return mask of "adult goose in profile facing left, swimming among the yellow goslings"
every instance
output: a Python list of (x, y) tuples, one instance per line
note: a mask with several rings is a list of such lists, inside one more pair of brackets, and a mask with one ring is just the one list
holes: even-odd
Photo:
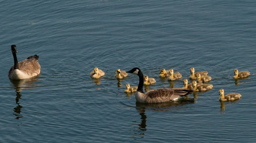
[(167, 101), (176, 101), (179, 98), (191, 94), (192, 91), (183, 88), (159, 88), (152, 91), (143, 92), (143, 73), (137, 67), (127, 71), (127, 73), (136, 74), (139, 77), (138, 89), (135, 94), (137, 102), (141, 103), (158, 103)]

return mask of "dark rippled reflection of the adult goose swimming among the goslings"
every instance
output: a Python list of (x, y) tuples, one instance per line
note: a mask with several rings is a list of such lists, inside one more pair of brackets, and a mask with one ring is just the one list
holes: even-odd
[(177, 111), (177, 109), (182, 108), (183, 105), (186, 104), (194, 104), (195, 100), (188, 98), (188, 99), (183, 99), (183, 100), (179, 100), (179, 101), (170, 101), (170, 102), (162, 102), (162, 103), (153, 103), (153, 104), (144, 104), (144, 103), (140, 103), (140, 102), (136, 102), (136, 109), (138, 111), (138, 113), (141, 116), (141, 122), (138, 124), (138, 132), (139, 133), (135, 133), (138, 135), (142, 135), (140, 136), (141, 138), (144, 138), (144, 133), (146, 132), (147, 128), (147, 116), (145, 111), (147, 110), (153, 110), (153, 111)]

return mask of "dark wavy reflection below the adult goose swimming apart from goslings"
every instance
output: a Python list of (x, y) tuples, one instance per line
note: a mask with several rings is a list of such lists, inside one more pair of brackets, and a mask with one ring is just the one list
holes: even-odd
[(21, 115), (22, 112), (22, 105), (20, 105), (20, 100), (22, 99), (22, 89), (25, 88), (34, 88), (35, 86), (37, 86), (34, 82), (37, 81), (37, 78), (34, 79), (22, 79), (22, 80), (12, 80), (10, 79), (10, 82), (13, 83), (13, 87), (16, 91), (16, 104), (17, 106), (13, 108), (14, 116), (16, 116), (16, 119), (20, 119), (21, 117), (23, 117)]

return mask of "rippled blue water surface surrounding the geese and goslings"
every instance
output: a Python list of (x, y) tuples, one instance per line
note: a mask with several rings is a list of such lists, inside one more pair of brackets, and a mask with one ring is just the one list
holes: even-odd
[[(0, 142), (254, 142), (256, 2), (1, 1)], [(40, 56), (41, 75), (13, 82), (19, 61)], [(100, 80), (89, 73), (105, 71)], [(139, 67), (147, 88), (181, 88), (160, 69), (188, 78), (207, 70), (214, 87), (177, 101), (144, 105), (116, 69)], [(235, 81), (233, 70), (251, 75)], [(190, 82), (190, 81), (189, 81)], [(219, 102), (219, 89), (242, 98)]]

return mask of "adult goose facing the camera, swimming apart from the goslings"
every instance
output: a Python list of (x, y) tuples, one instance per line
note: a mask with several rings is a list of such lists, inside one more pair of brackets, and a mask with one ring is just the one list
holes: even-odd
[(38, 55), (31, 55), (18, 63), (16, 45), (11, 45), (11, 52), (13, 53), (14, 65), (8, 73), (10, 79), (29, 79), (40, 75), (41, 67), (38, 63)]

